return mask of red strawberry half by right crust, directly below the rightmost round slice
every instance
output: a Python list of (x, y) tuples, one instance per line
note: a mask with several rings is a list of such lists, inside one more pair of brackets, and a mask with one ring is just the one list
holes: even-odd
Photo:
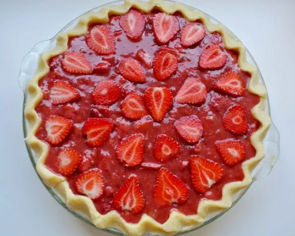
[(246, 147), (239, 140), (219, 140), (215, 142), (215, 146), (221, 158), (223, 158), (228, 165), (235, 165), (246, 156)]

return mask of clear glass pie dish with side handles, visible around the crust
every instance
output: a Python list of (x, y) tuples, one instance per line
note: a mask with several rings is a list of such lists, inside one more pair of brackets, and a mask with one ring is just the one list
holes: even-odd
[[(166, 2), (167, 3), (173, 3), (173, 1), (166, 1)], [(115, 1), (115, 2), (111, 2), (111, 3), (107, 4), (107, 5), (111, 6), (111, 5), (118, 5), (118, 4), (121, 4), (121, 3), (123, 3), (123, 1)], [(90, 10), (89, 12), (98, 11), (103, 6), (106, 6), (106, 5), (102, 5), (102, 6), (99, 6), (97, 8), (94, 8), (94, 9)], [(199, 11), (197, 9), (194, 9), (194, 10)], [(88, 13), (88, 12), (86, 12), (86, 13)], [(84, 14), (86, 14), (86, 13), (84, 13)], [(83, 16), (83, 15), (81, 15), (81, 16)], [(25, 56), (25, 58), (24, 58), (24, 60), (22, 62), (21, 71), (20, 71), (20, 74), (19, 74), (19, 85), (24, 91), (24, 107), (25, 107), (25, 105), (27, 103), (27, 100), (28, 100), (28, 93), (26, 92), (26, 84), (33, 77), (33, 75), (35, 73), (40, 54), (43, 53), (43, 52), (47, 52), (48, 50), (54, 48), (55, 45), (56, 45), (57, 36), (60, 33), (73, 28), (77, 24), (77, 22), (78, 22), (78, 20), (79, 20), (79, 18), (81, 16), (79, 16), (76, 19), (74, 19), (73, 21), (71, 21), (68, 25), (66, 25), (63, 29), (61, 29), (61, 31), (59, 31), (59, 33), (55, 37), (53, 37), (52, 39), (45, 40), (45, 41), (37, 43), (32, 48), (32, 50)], [(210, 21), (212, 23), (215, 23), (215, 24), (220, 23), (219, 21), (217, 21), (216, 19), (214, 19), (213, 17), (211, 17), (209, 15), (207, 15), (207, 17), (210, 19)], [(233, 33), (232, 33), (231, 36), (235, 40), (239, 41), (238, 38)], [(247, 62), (249, 64), (252, 64), (252, 65), (257, 67), (254, 59), (252, 58), (252, 56), (250, 55), (250, 53), (247, 50), (246, 50), (246, 57), (247, 57)], [(261, 73), (259, 72), (259, 70), (258, 70), (258, 76), (259, 76), (260, 83), (265, 86), (263, 78), (262, 78)], [(265, 99), (265, 104), (266, 104), (265, 111), (270, 116), (270, 106), (269, 106), (269, 101), (268, 101), (267, 98)], [(27, 124), (25, 118), (23, 117), (24, 137), (27, 136), (28, 129), (29, 129), (28, 124)], [(252, 179), (253, 179), (253, 181), (266, 176), (271, 171), (273, 165), (276, 163), (277, 158), (279, 156), (279, 133), (278, 133), (278, 130), (276, 129), (274, 124), (271, 124), (269, 132), (268, 132), (267, 136), (265, 137), (263, 144), (264, 144), (264, 148), (265, 148), (265, 157), (263, 158), (263, 160), (260, 161), (258, 166), (256, 166), (254, 171), (252, 171)], [(36, 167), (37, 158), (33, 154), (33, 151), (28, 146), (27, 146), (27, 149), (28, 149), (28, 154), (29, 154), (29, 156), (31, 158), (31, 161), (32, 161), (34, 167)], [(52, 194), (52, 196), (55, 197), (58, 200), (58, 202), (63, 207), (65, 207), (72, 214), (74, 214), (78, 218), (82, 219), (83, 221), (85, 221), (85, 222), (87, 222), (89, 224), (92, 224), (91, 221), (89, 219), (87, 219), (87, 217), (85, 217), (83, 214), (81, 214), (79, 212), (71, 211), (66, 206), (66, 204), (64, 203), (64, 200), (62, 199), (62, 197), (59, 196), (59, 194), (53, 188), (50, 188), (50, 187), (47, 187), (47, 186), (45, 186), (45, 187), (49, 190), (49, 192)], [(239, 192), (237, 192), (235, 194), (235, 196), (233, 198), (232, 206), (234, 206), (236, 204), (236, 202), (243, 196), (243, 194), (246, 192), (247, 189), (248, 188), (244, 188), (244, 189), (240, 190)], [(227, 210), (229, 210), (229, 209), (227, 209)], [(219, 218), (227, 210), (219, 211), (219, 212), (216, 212), (216, 213), (208, 216), (206, 218), (204, 224), (202, 224), (201, 226), (204, 226), (204, 225), (214, 221), (215, 219)], [(199, 226), (199, 227), (201, 227), (201, 226)], [(196, 227), (195, 229), (192, 229), (192, 230), (196, 230), (199, 227)], [(116, 234), (116, 235), (123, 235), (123, 233), (121, 233), (120, 231), (118, 231), (116, 229), (105, 229), (105, 230), (107, 232), (109, 232), (109, 233), (113, 233), (113, 234)], [(189, 230), (189, 231), (191, 231), (191, 230)], [(187, 233), (189, 231), (184, 231), (184, 232), (181, 232), (180, 234), (184, 234), (184, 233)]]

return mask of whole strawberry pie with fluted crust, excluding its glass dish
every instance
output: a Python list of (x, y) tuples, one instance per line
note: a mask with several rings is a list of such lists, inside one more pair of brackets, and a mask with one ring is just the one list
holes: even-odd
[(37, 171), (98, 228), (193, 229), (232, 205), (264, 157), (257, 70), (225, 26), (186, 5), (87, 13), (27, 87)]

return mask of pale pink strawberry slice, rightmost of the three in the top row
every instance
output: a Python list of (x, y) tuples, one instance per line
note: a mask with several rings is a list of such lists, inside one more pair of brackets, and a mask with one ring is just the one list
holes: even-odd
[(183, 47), (189, 47), (200, 42), (206, 35), (206, 29), (203, 25), (189, 23), (181, 30), (180, 43)]

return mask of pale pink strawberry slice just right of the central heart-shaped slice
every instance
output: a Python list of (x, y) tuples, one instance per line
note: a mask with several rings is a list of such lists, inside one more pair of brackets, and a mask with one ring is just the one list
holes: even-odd
[(189, 78), (184, 81), (177, 92), (175, 100), (177, 103), (198, 104), (206, 100), (207, 89), (198, 78)]

